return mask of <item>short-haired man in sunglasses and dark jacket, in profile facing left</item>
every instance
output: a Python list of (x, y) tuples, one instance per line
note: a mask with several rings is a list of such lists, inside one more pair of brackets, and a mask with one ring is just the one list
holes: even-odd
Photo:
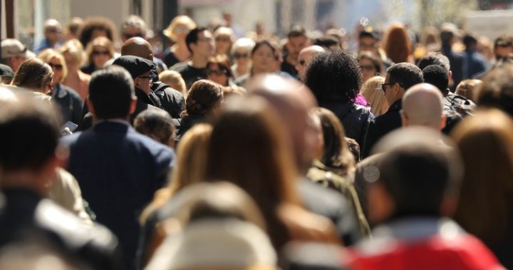
[(422, 71), (413, 63), (395, 63), (387, 69), (385, 83), (381, 85), (381, 89), (385, 93), (385, 98), (390, 107), (386, 113), (371, 122), (367, 140), (363, 146), (363, 157), (370, 155), (371, 149), (381, 137), (401, 127), (401, 99), (408, 88), (423, 83), (423, 81)]

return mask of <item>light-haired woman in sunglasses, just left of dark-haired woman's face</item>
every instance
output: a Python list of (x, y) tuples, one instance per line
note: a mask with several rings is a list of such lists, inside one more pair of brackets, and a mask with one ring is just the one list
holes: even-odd
[(232, 45), (231, 55), (235, 59), (232, 65), (234, 79), (246, 75), (251, 70), (251, 56), (255, 42), (251, 38), (238, 38)]

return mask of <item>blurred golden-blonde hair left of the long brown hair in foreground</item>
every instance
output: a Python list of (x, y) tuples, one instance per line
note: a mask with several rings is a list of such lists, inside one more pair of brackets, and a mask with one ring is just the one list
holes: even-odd
[(212, 126), (199, 123), (183, 135), (177, 147), (177, 162), (167, 187), (157, 190), (155, 198), (142, 212), (141, 221), (144, 224), (159, 207), (165, 204), (182, 188), (204, 180), (205, 154)]

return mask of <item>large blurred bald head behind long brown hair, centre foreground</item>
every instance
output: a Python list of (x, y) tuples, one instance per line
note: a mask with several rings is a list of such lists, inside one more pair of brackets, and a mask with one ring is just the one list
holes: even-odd
[(265, 98), (278, 112), (294, 147), (299, 172), (304, 172), (315, 155), (315, 123), (309, 115), (316, 100), (305, 85), (275, 75), (257, 76), (247, 84), (249, 95)]

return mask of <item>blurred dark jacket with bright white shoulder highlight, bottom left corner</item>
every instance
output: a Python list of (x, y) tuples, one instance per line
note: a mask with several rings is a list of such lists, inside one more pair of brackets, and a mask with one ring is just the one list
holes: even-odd
[(99, 224), (81, 219), (28, 189), (4, 189), (0, 194), (0, 249), (9, 244), (43, 244), (88, 269), (123, 269), (118, 240)]

